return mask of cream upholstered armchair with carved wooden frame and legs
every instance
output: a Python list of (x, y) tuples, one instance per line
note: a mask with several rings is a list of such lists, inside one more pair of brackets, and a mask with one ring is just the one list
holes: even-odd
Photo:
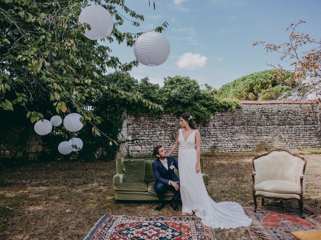
[(303, 157), (287, 150), (272, 150), (252, 159), (252, 190), (255, 211), (256, 198), (272, 198), (277, 200), (297, 200), (300, 215), (303, 211), (305, 188), (305, 165)]

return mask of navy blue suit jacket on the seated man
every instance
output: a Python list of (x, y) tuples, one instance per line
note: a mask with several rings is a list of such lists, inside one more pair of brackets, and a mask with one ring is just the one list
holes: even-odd
[[(179, 178), (176, 175), (174, 168), (170, 168), (171, 165), (174, 165), (177, 169), (179, 169), (178, 161), (173, 156), (168, 156), (167, 164), (169, 166), (168, 170), (165, 168), (161, 160), (159, 160), (158, 158), (152, 162), (152, 172), (155, 176), (155, 183), (162, 182), (168, 185), (169, 180), (179, 181)], [(171, 177), (171, 179), (168, 179), (169, 177)]]

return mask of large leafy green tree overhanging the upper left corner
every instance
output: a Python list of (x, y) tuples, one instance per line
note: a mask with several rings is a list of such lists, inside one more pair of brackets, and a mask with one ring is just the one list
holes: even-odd
[[(46, 112), (35, 109), (37, 104), (34, 103), (50, 102), (47, 109), (59, 114), (76, 109), (84, 121), (94, 125), (93, 132), (99, 134), (102, 132), (95, 124), (100, 123), (101, 118), (85, 107), (89, 99), (107, 95), (110, 99), (137, 100), (146, 106), (160, 107), (104, 81), (107, 67), (126, 71), (138, 62), (121, 63), (111, 54), (108, 45), (100, 45), (99, 41), (83, 35), (85, 27), (90, 26), (78, 23), (78, 15), (88, 4), (102, 5), (116, 19), (112, 35), (103, 41), (133, 45), (137, 34), (118, 29), (126, 16), (116, 7), (134, 19), (134, 26), (139, 26), (138, 21), (143, 21), (144, 17), (130, 10), (124, 0), (0, 2), (0, 106), (3, 109), (14, 110), (15, 105), (22, 105), (27, 117), (35, 122)], [(166, 27), (164, 22), (156, 30)]]

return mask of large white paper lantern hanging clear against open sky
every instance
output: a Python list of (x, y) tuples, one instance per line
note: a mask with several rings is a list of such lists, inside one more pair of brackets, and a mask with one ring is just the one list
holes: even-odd
[(161, 65), (169, 57), (170, 51), (171, 46), (167, 38), (155, 31), (141, 34), (134, 44), (135, 57), (147, 66)]

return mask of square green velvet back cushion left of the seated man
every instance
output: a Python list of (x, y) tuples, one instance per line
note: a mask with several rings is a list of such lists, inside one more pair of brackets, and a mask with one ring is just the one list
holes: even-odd
[(125, 159), (122, 161), (123, 182), (142, 182), (145, 179), (146, 161), (144, 159)]

